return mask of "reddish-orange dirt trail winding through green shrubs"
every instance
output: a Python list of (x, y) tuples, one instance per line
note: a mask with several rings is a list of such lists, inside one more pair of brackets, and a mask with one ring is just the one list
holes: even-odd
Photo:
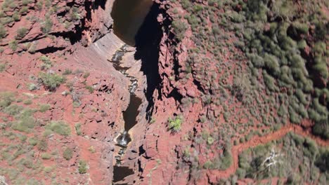
[(239, 154), (244, 151), (245, 149), (249, 149), (252, 147), (255, 147), (259, 144), (266, 144), (268, 142), (271, 142), (273, 140), (277, 140), (280, 139), (282, 137), (284, 137), (285, 135), (288, 134), (288, 132), (295, 132), (297, 135), (301, 135), (303, 137), (310, 137), (311, 139), (314, 139), (314, 141), (316, 142), (316, 144), (320, 145), (320, 146), (329, 146), (329, 142), (325, 141), (323, 139), (321, 139), (320, 137), (316, 137), (314, 135), (311, 134), (311, 129), (310, 128), (302, 128), (302, 126), (300, 125), (286, 125), (283, 128), (281, 128), (280, 130), (276, 131), (276, 132), (272, 132), (269, 135), (265, 135), (262, 137), (259, 137), (258, 135), (255, 137), (252, 137), (252, 139), (250, 139), (250, 141), (245, 142), (243, 144), (238, 144), (237, 146), (233, 146), (232, 147), (232, 157), (233, 157), (233, 164), (228, 167), (227, 170), (209, 170), (207, 172), (208, 177), (210, 179), (210, 181), (217, 181), (219, 178), (228, 178), (230, 177), (231, 174), (234, 174), (236, 172), (236, 170), (238, 169), (238, 156)]

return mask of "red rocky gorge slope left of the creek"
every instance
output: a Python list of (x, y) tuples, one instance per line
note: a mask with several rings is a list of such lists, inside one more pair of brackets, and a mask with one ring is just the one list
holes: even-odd
[[(25, 135), (27, 141), (37, 138), (35, 146), (25, 144), (29, 147), (25, 152), (32, 156), (18, 156), (11, 169), (17, 168), (16, 161), (20, 158), (29, 161), (34, 158), (39, 173), (47, 171), (49, 175), (35, 172), (28, 176), (26, 170), (19, 172), (20, 178), (16, 179), (9, 178), (8, 171), (1, 171), (1, 175), (9, 184), (22, 179), (44, 184), (53, 181), (109, 184), (115, 150), (113, 139), (124, 128), (122, 111), (129, 104), (129, 79), (108, 62), (124, 45), (112, 34), (110, 11), (113, 1), (40, 2), (19, 1), (14, 5), (0, 1), (3, 5), (1, 16), (5, 18), (24, 11), (15, 21), (4, 24), (6, 34), (0, 39), (0, 63), (4, 67), (0, 73), (1, 98), (3, 93), (10, 93), (13, 99), (22, 99), (11, 104), (34, 109), (31, 118), (36, 122), (33, 129), (25, 132), (11, 127), (21, 112), (13, 116), (1, 107), (0, 116), (6, 120), (4, 133)], [(65, 80), (50, 88), (46, 85), (47, 80), (41, 79), (41, 74), (57, 75)], [(25, 104), (22, 102), (25, 100), (32, 101)], [(41, 105), (44, 105), (42, 110)], [(49, 125), (59, 121), (67, 125), (65, 130), (70, 129), (70, 132), (60, 135), (51, 131)], [(41, 140), (46, 143), (42, 150), (38, 145)], [(0, 141), (4, 149), (9, 144), (20, 145), (20, 141), (9, 142), (4, 135), (0, 135)], [(71, 154), (66, 159), (67, 149)], [(41, 154), (44, 157), (41, 158)], [(46, 155), (51, 155), (50, 159)], [(1, 159), (0, 165), (1, 168), (8, 166), (8, 160)], [(57, 176), (50, 177), (54, 171)]]

